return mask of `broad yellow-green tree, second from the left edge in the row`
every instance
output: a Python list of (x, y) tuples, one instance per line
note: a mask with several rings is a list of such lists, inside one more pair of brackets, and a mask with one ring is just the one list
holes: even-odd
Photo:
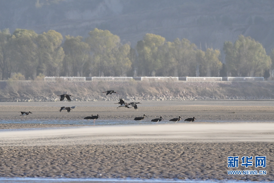
[(33, 30), (16, 29), (11, 37), (12, 66), (16, 73), (24, 73), (26, 79), (34, 79), (39, 64), (37, 34)]

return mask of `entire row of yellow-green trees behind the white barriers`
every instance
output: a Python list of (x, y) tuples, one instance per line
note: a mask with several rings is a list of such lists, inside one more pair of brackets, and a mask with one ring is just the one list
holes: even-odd
[(268, 56), (262, 44), (240, 35), (218, 49), (199, 49), (188, 39), (166, 41), (146, 34), (135, 47), (122, 44), (117, 35), (95, 28), (87, 38), (63, 36), (55, 30), (0, 30), (0, 73), (7, 80), (18, 74), (34, 80), (43, 76), (175, 76), (261, 77), (272, 68), (274, 49)]

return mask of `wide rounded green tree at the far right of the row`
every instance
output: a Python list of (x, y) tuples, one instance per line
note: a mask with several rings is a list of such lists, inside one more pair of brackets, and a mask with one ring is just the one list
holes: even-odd
[(250, 37), (240, 35), (234, 45), (225, 42), (223, 49), (232, 76), (263, 76), (264, 71), (271, 67), (271, 58), (266, 55), (262, 44)]

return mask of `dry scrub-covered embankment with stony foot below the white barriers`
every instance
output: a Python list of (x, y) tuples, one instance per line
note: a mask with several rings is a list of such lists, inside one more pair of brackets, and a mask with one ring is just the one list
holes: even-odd
[[(119, 94), (105, 95), (114, 90)], [(274, 99), (274, 82), (1, 81), (0, 102)]]

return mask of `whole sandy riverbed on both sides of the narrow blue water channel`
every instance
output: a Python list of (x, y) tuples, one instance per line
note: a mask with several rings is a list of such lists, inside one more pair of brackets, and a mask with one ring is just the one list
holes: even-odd
[[(18, 111), (26, 110), (33, 112), (28, 116), (32, 119), (66, 117), (73, 120), (92, 112), (105, 114), (99, 114), (104, 119), (130, 119), (145, 113), (149, 119), (160, 115), (166, 119), (195, 116), (197, 122), (2, 131), (0, 176), (274, 180), (271, 102), (244, 105), (244, 102), (194, 102), (195, 105), (152, 102), (150, 106), (142, 103), (145, 104), (138, 111), (85, 103), (86, 106), (79, 104), (73, 113), (60, 113), (56, 104), (1, 105), (2, 120), (18, 119)], [(246, 122), (206, 122), (209, 119)], [(27, 125), (10, 126), (22, 128)], [(228, 168), (227, 156), (239, 156), (239, 167)], [(267, 166), (255, 168), (253, 161), (252, 167), (242, 167), (242, 156), (266, 156)], [(267, 174), (228, 175), (227, 170), (266, 170)]]

